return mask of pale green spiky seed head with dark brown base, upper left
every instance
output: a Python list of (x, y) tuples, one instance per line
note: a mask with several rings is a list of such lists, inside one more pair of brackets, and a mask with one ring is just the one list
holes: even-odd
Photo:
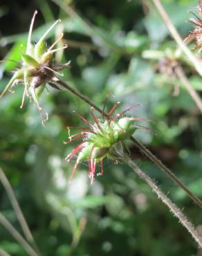
[(57, 19), (57, 21), (48, 28), (46, 33), (42, 35), (36, 44), (32, 44), (31, 35), (36, 15), (37, 11), (34, 12), (33, 19), (30, 24), (26, 51), (22, 51), (21, 49), (21, 68), (14, 72), (14, 75), (6, 85), (6, 88), (0, 94), (0, 98), (7, 91), (11, 91), (12, 87), (16, 84), (24, 84), (21, 108), (24, 106), (25, 97), (28, 97), (30, 101), (33, 100), (33, 102), (37, 104), (39, 113), (42, 116), (42, 124), (44, 125), (44, 122), (48, 120), (48, 113), (44, 111), (39, 104), (39, 96), (42, 94), (47, 84), (55, 89), (59, 89), (54, 82), (57, 82), (58, 80), (57, 75), (63, 76), (63, 73), (59, 73), (59, 71), (68, 67), (69, 62), (66, 64), (55, 64), (53, 61), (53, 53), (67, 48), (68, 46), (65, 45), (62, 48), (55, 48), (57, 42), (62, 39), (63, 34), (50, 47), (48, 47), (44, 41), (46, 35), (50, 33), (50, 30), (52, 30), (55, 25), (61, 21), (60, 19)]

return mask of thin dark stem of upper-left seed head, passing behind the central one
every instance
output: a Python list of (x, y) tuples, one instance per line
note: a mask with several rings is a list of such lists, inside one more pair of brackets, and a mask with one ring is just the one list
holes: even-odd
[[(64, 86), (64, 88), (66, 88), (68, 91), (71, 91), (71, 93), (73, 93), (74, 95), (76, 95), (78, 98), (80, 98), (81, 100), (83, 100), (84, 102), (86, 102), (87, 104), (89, 104), (91, 107), (93, 107), (94, 109), (96, 109), (99, 113), (102, 114), (102, 116), (104, 116), (107, 119), (111, 119), (111, 117), (105, 113), (104, 111), (102, 111), (102, 109), (100, 109), (99, 107), (97, 107), (93, 102), (91, 102), (91, 100), (89, 100), (88, 98), (86, 98), (84, 95), (82, 95), (80, 92), (78, 92), (77, 90), (73, 89), (71, 86), (69, 86), (68, 84), (66, 84), (65, 82), (63, 82), (62, 80), (57, 80), (55, 81), (57, 84), (60, 84), (61, 86)], [(136, 140), (136, 138), (134, 137), (130, 137), (131, 141), (134, 143), (134, 145), (136, 145), (136, 147), (138, 147), (138, 149), (140, 149), (140, 152), (143, 152), (145, 154), (145, 156), (147, 156), (156, 166), (160, 167), (160, 170), (162, 170), (163, 172), (165, 172), (167, 174), (167, 176), (169, 176), (177, 185), (179, 185), (183, 190), (185, 190), (185, 192), (187, 192), (187, 194), (190, 196), (190, 198), (197, 204), (199, 205), (200, 208), (202, 208), (202, 202), (201, 200), (195, 196), (175, 175), (174, 173), (169, 170), (169, 168), (167, 168), (156, 156), (154, 156), (154, 154), (152, 154), (152, 152), (149, 151), (149, 149), (147, 149), (143, 144), (139, 143), (138, 140)]]

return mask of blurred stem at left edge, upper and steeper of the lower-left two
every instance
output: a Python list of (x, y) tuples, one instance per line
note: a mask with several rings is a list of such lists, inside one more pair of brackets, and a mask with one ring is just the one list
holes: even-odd
[(8, 194), (10, 203), (12, 204), (12, 207), (15, 210), (15, 214), (17, 216), (17, 219), (20, 223), (21, 229), (23, 230), (26, 239), (30, 242), (30, 244), (32, 244), (37, 249), (33, 235), (30, 232), (28, 224), (26, 223), (26, 219), (24, 218), (24, 214), (22, 213), (21, 208), (19, 207), (19, 203), (15, 197), (12, 187), (8, 179), (6, 178), (6, 175), (3, 173), (3, 170), (1, 169), (1, 167), (0, 167), (0, 180)]

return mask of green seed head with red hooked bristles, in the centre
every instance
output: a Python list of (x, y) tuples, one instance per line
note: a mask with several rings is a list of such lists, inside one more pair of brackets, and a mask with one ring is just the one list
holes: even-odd
[(89, 127), (67, 127), (68, 134), (70, 133), (70, 128), (82, 129), (83, 131), (68, 136), (68, 141), (64, 142), (65, 144), (71, 143), (74, 140), (82, 139), (82, 143), (77, 145), (75, 149), (68, 154), (66, 157), (66, 161), (71, 161), (73, 156), (77, 153), (77, 161), (73, 167), (73, 172), (70, 177), (70, 182), (77, 170), (77, 166), (81, 161), (89, 161), (89, 179), (91, 180), (91, 184), (95, 178), (95, 168), (96, 164), (100, 163), (101, 172), (98, 175), (103, 174), (103, 160), (104, 158), (109, 158), (114, 161), (118, 161), (118, 159), (122, 158), (122, 153), (127, 149), (127, 145), (125, 144), (125, 140), (129, 139), (134, 132), (139, 129), (149, 129), (148, 127), (140, 126), (136, 123), (136, 121), (146, 121), (151, 122), (151, 120), (146, 120), (144, 118), (133, 118), (133, 117), (125, 117), (124, 114), (134, 107), (138, 105), (134, 105), (133, 107), (126, 109), (120, 113), (116, 113), (116, 115), (111, 116), (115, 111), (116, 107), (118, 107), (120, 102), (117, 102), (112, 109), (109, 111), (108, 115), (110, 119), (97, 118), (93, 113), (93, 107), (91, 107), (91, 116), (93, 118), (93, 122), (87, 120), (79, 113), (79, 116), (84, 122), (86, 122)]

